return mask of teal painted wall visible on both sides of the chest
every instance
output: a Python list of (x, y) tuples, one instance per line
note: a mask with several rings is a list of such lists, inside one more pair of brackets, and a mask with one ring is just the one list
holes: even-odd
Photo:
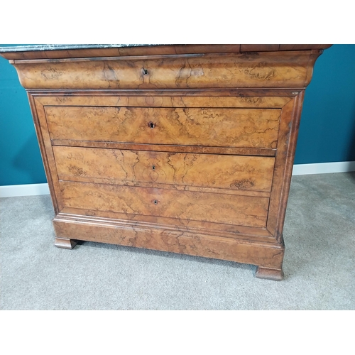
[[(315, 64), (295, 164), (355, 160), (355, 45), (333, 45)], [(46, 182), (25, 89), (0, 58), (0, 185)]]

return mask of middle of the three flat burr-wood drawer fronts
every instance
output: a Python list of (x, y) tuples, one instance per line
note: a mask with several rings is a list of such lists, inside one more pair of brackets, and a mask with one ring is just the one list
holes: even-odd
[(271, 191), (275, 158), (53, 147), (60, 180), (112, 179), (188, 187)]

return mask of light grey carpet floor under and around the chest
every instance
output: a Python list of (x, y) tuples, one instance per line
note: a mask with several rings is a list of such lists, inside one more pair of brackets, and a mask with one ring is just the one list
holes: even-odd
[(0, 199), (1, 310), (355, 309), (355, 173), (293, 177), (281, 282), (210, 258), (59, 249), (53, 217), (49, 195)]

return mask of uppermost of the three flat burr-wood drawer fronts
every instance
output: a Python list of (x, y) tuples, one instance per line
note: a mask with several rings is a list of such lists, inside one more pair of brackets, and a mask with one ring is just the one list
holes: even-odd
[(45, 107), (52, 140), (276, 148), (280, 109)]

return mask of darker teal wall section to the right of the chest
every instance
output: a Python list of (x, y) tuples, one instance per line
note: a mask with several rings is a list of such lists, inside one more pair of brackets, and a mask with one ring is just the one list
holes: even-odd
[(332, 45), (315, 63), (295, 164), (355, 160), (355, 45)]

